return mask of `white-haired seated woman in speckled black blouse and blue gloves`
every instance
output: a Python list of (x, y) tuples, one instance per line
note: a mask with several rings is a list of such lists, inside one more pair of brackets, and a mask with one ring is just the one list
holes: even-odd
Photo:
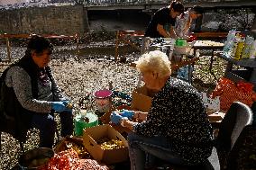
[[(132, 170), (154, 166), (157, 158), (177, 165), (197, 165), (212, 153), (213, 130), (197, 89), (171, 77), (169, 58), (159, 50), (136, 62), (146, 87), (154, 92), (149, 112), (112, 112), (112, 123), (128, 134)], [(131, 121), (134, 118), (142, 122)], [(147, 161), (146, 161), (147, 158)]]

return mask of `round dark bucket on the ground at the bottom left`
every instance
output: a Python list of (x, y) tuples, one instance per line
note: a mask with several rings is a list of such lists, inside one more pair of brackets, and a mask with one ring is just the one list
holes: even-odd
[(41, 169), (48, 164), (50, 157), (54, 156), (54, 151), (50, 148), (33, 148), (26, 151), (18, 159), (20, 170)]

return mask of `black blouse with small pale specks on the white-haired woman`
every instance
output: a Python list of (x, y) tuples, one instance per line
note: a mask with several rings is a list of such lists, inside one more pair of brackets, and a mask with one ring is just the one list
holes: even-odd
[(212, 127), (197, 90), (186, 82), (169, 78), (152, 99), (147, 121), (133, 127), (142, 136), (169, 138), (172, 149), (187, 164), (197, 164), (210, 156)]

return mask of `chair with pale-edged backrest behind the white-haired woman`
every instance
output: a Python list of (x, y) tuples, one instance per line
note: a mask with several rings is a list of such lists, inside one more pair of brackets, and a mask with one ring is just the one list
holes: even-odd
[(212, 155), (208, 157), (206, 162), (198, 166), (168, 165), (169, 169), (219, 170), (225, 169), (228, 165), (233, 164), (232, 161), (228, 161), (231, 159), (227, 157), (229, 157), (229, 153), (240, 137), (242, 130), (251, 125), (252, 115), (251, 108), (248, 105), (234, 102), (226, 112), (224, 120), (220, 123)]

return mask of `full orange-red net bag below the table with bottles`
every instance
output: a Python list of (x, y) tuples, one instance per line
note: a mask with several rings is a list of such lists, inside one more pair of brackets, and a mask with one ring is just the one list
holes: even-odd
[(235, 101), (251, 106), (256, 100), (256, 94), (252, 89), (251, 83), (239, 82), (236, 84), (232, 80), (222, 77), (210, 96), (212, 98), (220, 96), (220, 109), (227, 111)]

